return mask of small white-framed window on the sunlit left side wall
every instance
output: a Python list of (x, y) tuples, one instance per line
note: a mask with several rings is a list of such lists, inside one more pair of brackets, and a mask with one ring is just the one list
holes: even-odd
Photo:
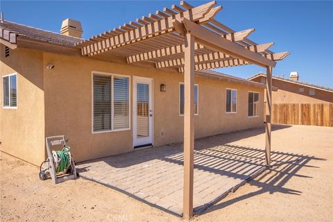
[(3, 108), (17, 108), (17, 73), (2, 77)]

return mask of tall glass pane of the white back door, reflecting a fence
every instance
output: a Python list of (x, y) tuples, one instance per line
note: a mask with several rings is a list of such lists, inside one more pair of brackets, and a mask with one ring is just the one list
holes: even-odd
[(149, 136), (149, 85), (137, 83), (137, 138)]

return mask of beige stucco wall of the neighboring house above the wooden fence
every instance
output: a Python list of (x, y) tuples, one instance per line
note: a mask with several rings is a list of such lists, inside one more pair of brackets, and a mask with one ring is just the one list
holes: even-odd
[[(262, 76), (254, 78), (253, 81), (261, 83)], [(277, 92), (272, 93), (273, 103), (333, 103), (333, 92), (327, 92), (320, 89), (315, 89), (315, 95), (309, 95), (310, 87), (288, 83), (283, 80), (273, 79), (272, 85), (278, 87)], [(304, 92), (300, 92), (300, 88)]]

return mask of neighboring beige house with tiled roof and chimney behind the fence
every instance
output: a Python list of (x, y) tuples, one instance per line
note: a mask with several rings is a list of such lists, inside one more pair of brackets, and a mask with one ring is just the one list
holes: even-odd
[[(333, 103), (333, 89), (304, 83), (297, 72), (291, 72), (289, 78), (273, 76), (272, 85), (278, 87), (273, 92), (273, 104), (278, 103)], [(257, 83), (266, 83), (266, 74), (259, 73), (248, 78)]]

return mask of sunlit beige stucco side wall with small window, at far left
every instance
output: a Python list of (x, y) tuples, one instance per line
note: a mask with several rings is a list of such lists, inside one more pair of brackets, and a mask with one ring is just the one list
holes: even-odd
[(3, 83), (0, 90), (1, 151), (33, 164), (40, 164), (44, 152), (44, 89), (42, 53), (26, 49), (10, 50), (3, 55), (1, 45), (1, 77), (17, 73), (17, 109), (3, 108)]

